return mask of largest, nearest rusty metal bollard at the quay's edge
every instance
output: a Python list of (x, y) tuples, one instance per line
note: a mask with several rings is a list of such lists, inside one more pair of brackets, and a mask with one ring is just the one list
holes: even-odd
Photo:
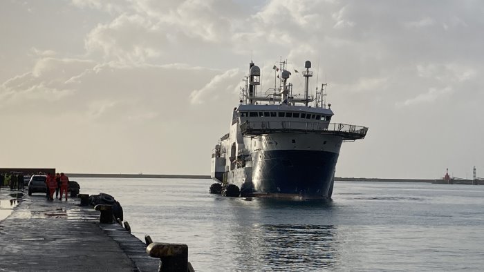
[(153, 242), (146, 248), (150, 257), (159, 258), (159, 272), (188, 271), (188, 246)]

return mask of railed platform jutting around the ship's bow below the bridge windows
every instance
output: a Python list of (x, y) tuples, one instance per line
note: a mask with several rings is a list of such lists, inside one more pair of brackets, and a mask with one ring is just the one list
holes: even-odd
[(241, 124), (242, 135), (262, 135), (268, 133), (317, 133), (337, 135), (344, 141), (363, 139), (368, 132), (365, 126), (327, 122), (299, 122), (299, 121), (260, 121), (244, 122)]

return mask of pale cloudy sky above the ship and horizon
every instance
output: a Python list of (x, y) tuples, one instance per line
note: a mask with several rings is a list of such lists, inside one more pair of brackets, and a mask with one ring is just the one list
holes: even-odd
[(250, 61), (265, 90), (287, 59), (312, 61), (312, 92), (328, 83), (332, 122), (369, 127), (337, 176), (483, 177), (483, 14), (471, 0), (4, 0), (0, 166), (209, 175)]

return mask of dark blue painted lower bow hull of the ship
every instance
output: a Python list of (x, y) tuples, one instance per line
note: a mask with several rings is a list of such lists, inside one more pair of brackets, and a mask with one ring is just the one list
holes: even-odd
[(331, 197), (338, 154), (317, 150), (271, 150), (257, 151), (252, 157), (254, 193)]

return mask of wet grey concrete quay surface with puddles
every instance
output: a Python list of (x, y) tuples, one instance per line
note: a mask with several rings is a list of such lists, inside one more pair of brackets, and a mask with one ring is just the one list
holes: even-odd
[(47, 201), (4, 188), (0, 271), (158, 271), (143, 242), (120, 224), (100, 224), (99, 212), (79, 199)]

